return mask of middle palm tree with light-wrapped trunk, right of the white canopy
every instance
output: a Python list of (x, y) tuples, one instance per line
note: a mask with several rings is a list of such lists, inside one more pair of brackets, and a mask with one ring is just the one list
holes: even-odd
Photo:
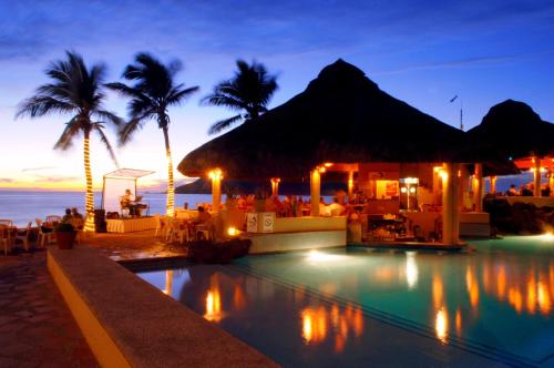
[(157, 126), (164, 133), (165, 154), (167, 156), (167, 214), (173, 215), (174, 184), (173, 161), (170, 147), (170, 115), (167, 109), (178, 105), (198, 91), (198, 86), (185, 89), (183, 83), (175, 84), (175, 74), (181, 71), (178, 60), (164, 65), (148, 53), (136, 54), (135, 62), (125, 68), (123, 78), (134, 81), (134, 85), (109, 83), (107, 88), (131, 99), (129, 102), (130, 121), (120, 130), (120, 144), (127, 143), (132, 135), (143, 127), (148, 120), (156, 120)]

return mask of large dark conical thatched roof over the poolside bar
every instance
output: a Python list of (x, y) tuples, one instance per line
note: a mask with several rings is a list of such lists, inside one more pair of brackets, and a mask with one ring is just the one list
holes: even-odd
[(342, 61), (256, 121), (246, 122), (183, 159), (179, 172), (228, 178), (301, 177), (324, 162), (459, 160), (465, 134), (392, 98)]

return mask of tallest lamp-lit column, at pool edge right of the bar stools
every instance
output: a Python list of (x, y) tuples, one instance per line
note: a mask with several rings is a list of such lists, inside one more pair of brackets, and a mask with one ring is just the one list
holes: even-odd
[(442, 177), (442, 243), (458, 245), (460, 238), (459, 164), (444, 163)]

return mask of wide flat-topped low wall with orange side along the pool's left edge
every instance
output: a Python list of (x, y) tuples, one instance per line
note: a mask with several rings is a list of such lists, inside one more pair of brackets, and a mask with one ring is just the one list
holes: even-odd
[(50, 247), (48, 268), (103, 367), (278, 367), (95, 248)]

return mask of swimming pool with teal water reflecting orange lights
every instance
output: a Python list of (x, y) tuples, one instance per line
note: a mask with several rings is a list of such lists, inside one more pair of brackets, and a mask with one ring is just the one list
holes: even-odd
[(366, 248), (137, 275), (284, 366), (553, 366), (554, 241)]

